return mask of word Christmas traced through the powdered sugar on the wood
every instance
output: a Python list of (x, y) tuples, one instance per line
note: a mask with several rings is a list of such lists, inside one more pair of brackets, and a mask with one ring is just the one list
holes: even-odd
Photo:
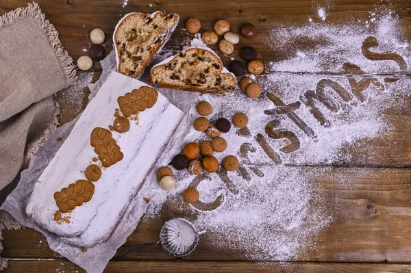
[[(269, 92), (267, 97), (275, 105), (273, 109), (264, 110), (264, 114), (273, 116), (274, 118), (266, 123), (264, 127), (265, 135), (273, 140), (286, 139), (288, 144), (279, 148), (279, 151), (282, 153), (293, 153), (300, 148), (300, 141), (295, 132), (279, 129), (281, 121), (279, 116), (286, 116), (289, 120), (295, 123), (301, 131), (312, 139), (313, 142), (318, 140), (317, 133), (312, 127), (310, 127), (307, 122), (304, 122), (304, 117), (299, 116), (296, 113), (296, 110), (305, 105), (308, 107), (310, 114), (319, 122), (319, 124), (325, 129), (332, 126), (332, 120), (327, 118), (327, 115), (321, 111), (320, 105), (323, 105), (323, 109), (329, 110), (331, 113), (337, 113), (342, 107), (343, 103), (349, 105), (350, 107), (360, 107), (361, 103), (366, 102), (366, 94), (364, 91), (373, 87), (373, 90), (376, 92), (383, 92), (387, 90), (384, 83), (393, 83), (401, 79), (401, 75), (405, 74), (408, 71), (408, 65), (406, 61), (401, 57), (401, 55), (392, 52), (386, 53), (375, 53), (371, 51), (371, 48), (378, 47), (377, 39), (373, 36), (366, 38), (362, 42), (362, 55), (366, 59), (371, 61), (393, 61), (396, 62), (399, 66), (399, 75), (392, 75), (383, 77), (382, 80), (377, 79), (373, 75), (367, 75), (364, 73), (360, 66), (351, 63), (343, 64), (343, 73), (346, 75), (347, 81), (350, 86), (350, 90), (344, 88), (340, 83), (332, 79), (320, 79), (316, 83), (314, 90), (307, 90), (299, 96), (299, 101), (292, 103), (284, 103), (282, 99), (275, 94), (275, 92)], [(336, 96), (332, 96), (332, 92), (335, 92)], [(325, 107), (325, 108), (324, 108)], [(239, 130), (239, 135), (251, 136), (250, 131), (247, 127)], [(260, 144), (262, 150), (266, 155), (273, 161), (273, 164), (282, 164), (283, 160), (280, 153), (277, 153), (275, 149), (270, 145), (269, 141), (266, 140), (266, 137), (263, 133), (257, 133), (256, 140)], [(239, 155), (242, 161), (242, 164), (251, 164), (251, 160), (248, 158), (249, 153), (256, 153), (256, 148), (253, 144), (245, 142), (240, 146)], [(251, 181), (251, 174), (249, 170), (256, 174), (258, 177), (264, 177), (264, 173), (258, 168), (258, 166), (240, 166), (237, 170), (242, 179), (245, 181)], [(224, 168), (220, 168), (217, 172), (219, 178), (227, 190), (234, 195), (239, 194), (240, 190), (235, 185), (235, 183), (227, 176), (227, 171)], [(190, 183), (189, 187), (197, 188), (201, 181), (211, 181), (212, 177), (210, 174), (199, 174), (195, 179)], [(221, 193), (215, 198), (214, 201), (210, 203), (203, 203), (201, 200), (197, 203), (193, 203), (192, 206), (201, 211), (210, 211), (220, 207), (224, 200), (224, 194)]]

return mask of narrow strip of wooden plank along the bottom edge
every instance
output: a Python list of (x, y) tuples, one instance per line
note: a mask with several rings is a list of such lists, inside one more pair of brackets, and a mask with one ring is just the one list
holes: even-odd
[[(169, 273), (169, 272), (301, 272), (301, 273), (378, 273), (408, 272), (410, 264), (402, 263), (261, 263), (261, 262), (201, 262), (201, 261), (110, 261), (104, 272)], [(20, 272), (85, 272), (69, 261), (8, 261), (8, 273)]]

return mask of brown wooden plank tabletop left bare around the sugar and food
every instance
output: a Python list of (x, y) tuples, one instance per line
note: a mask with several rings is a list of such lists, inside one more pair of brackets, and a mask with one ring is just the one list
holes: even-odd
[[(99, 27), (108, 35), (104, 42), (107, 52), (112, 31), (119, 19), (128, 12), (154, 12), (165, 10), (177, 12), (179, 27), (167, 45), (178, 48), (186, 39), (181, 28), (187, 18), (195, 16), (210, 28), (219, 18), (224, 18), (238, 29), (241, 23), (251, 22), (258, 29), (258, 36), (241, 45), (252, 45), (264, 61), (280, 61), (289, 57), (289, 52), (272, 52), (263, 38), (271, 26), (292, 23), (303, 25), (308, 17), (316, 16), (316, 5), (327, 5), (327, 22), (344, 24), (355, 16), (366, 20), (369, 12), (389, 8), (396, 12), (404, 40), (411, 42), (411, 1), (398, 0), (386, 3), (379, 0), (266, 0), (266, 1), (221, 1), (221, 0), (129, 0), (123, 7), (121, 0), (38, 0), (47, 18), (60, 32), (60, 40), (74, 60), (90, 47), (88, 34)], [(1, 0), (0, 14), (27, 5), (23, 0)], [(351, 17), (350, 17), (351, 16)], [(318, 16), (317, 16), (318, 19)], [(310, 44), (299, 42), (299, 47)], [(238, 56), (236, 47), (235, 55)], [(411, 57), (411, 56), (408, 56)], [(225, 60), (227, 61), (227, 60)], [(94, 74), (93, 74), (94, 73)], [(265, 73), (281, 74), (282, 71)], [(340, 71), (324, 71), (336, 77)], [(391, 75), (393, 71), (383, 74)], [(296, 73), (295, 77), (299, 77)], [(411, 77), (410, 71), (404, 77)], [(81, 79), (96, 80), (101, 75), (101, 66), (95, 64), (92, 71), (79, 72)], [(60, 92), (56, 99), (62, 105), (64, 123), (75, 117), (86, 105), (86, 83)], [(66, 99), (71, 92), (82, 103), (73, 104)], [(297, 261), (247, 261), (230, 250), (213, 251), (207, 239), (201, 241), (195, 252), (180, 261), (166, 255), (160, 246), (136, 251), (122, 261), (110, 261), (107, 272), (410, 272), (411, 271), (411, 99), (406, 107), (388, 108), (387, 116), (395, 125), (384, 139), (367, 141), (356, 152), (369, 158), (343, 162), (343, 166), (329, 166), (326, 172), (338, 174), (317, 179), (317, 188), (327, 196), (329, 209), (334, 211), (334, 220), (322, 229), (315, 239), (316, 248), (299, 255)], [(368, 151), (376, 156), (367, 157)], [(318, 166), (324, 168), (325, 166)], [(361, 173), (361, 175), (358, 175)], [(325, 176), (326, 177), (326, 176)], [(336, 177), (332, 179), (330, 177)], [(337, 177), (349, 177), (349, 185), (338, 183)], [(336, 211), (336, 212), (335, 212)], [(164, 216), (166, 219), (166, 216)], [(127, 242), (134, 244), (158, 239), (164, 219), (140, 221), (138, 228)], [(3, 231), (3, 252), (8, 259), (6, 272), (83, 272), (81, 268), (51, 251), (40, 233), (32, 229)]]

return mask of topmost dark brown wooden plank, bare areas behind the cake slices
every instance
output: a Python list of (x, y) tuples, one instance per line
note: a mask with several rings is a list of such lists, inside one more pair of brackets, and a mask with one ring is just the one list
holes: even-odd
[[(27, 1), (5, 0), (1, 1), (0, 9), (10, 11), (14, 8), (25, 6)], [(273, 26), (284, 25), (306, 25), (308, 18), (312, 17), (314, 21), (320, 22), (321, 19), (316, 15), (316, 3), (312, 1), (230, 1), (221, 4), (219, 0), (210, 1), (154, 1), (149, 2), (138, 0), (129, 0), (123, 8), (123, 1), (120, 0), (39, 0), (43, 12), (47, 18), (55, 25), (60, 32), (62, 44), (73, 56), (74, 60), (87, 51), (91, 42), (88, 34), (95, 27), (105, 31), (107, 38), (104, 47), (107, 52), (112, 50), (111, 36), (114, 26), (119, 19), (129, 12), (154, 12), (155, 10), (165, 10), (166, 12), (179, 13), (181, 20), (179, 27), (171, 38), (167, 47), (170, 49), (181, 50), (182, 44), (190, 40), (193, 36), (182, 31), (186, 20), (196, 16), (202, 22), (203, 29), (211, 29), (218, 18), (225, 18), (232, 25), (234, 31), (238, 31), (240, 25), (245, 22), (251, 22), (258, 29), (258, 36), (251, 40), (241, 39), (240, 44), (236, 46), (234, 56), (238, 58), (240, 47), (251, 45), (255, 47), (266, 62), (279, 62), (287, 60), (290, 55), (295, 55), (295, 49), (284, 48), (273, 52), (269, 45), (264, 43), (264, 38), (269, 35), (269, 29)], [(322, 2), (319, 1), (318, 5)], [(373, 0), (344, 0), (336, 1), (329, 6), (327, 11), (327, 23), (336, 23), (340, 25), (347, 21), (347, 18), (355, 16), (357, 20), (369, 20), (370, 12), (382, 14), (387, 7), (385, 3)], [(411, 3), (407, 0), (396, 1), (388, 6), (399, 17), (399, 26), (404, 35), (404, 40), (410, 40), (411, 29)], [(312, 48), (312, 44), (307, 41), (295, 41), (295, 48), (300, 51)], [(298, 44), (296, 44), (298, 43)], [(297, 47), (298, 45), (298, 47)], [(318, 44), (316, 44), (318, 46)], [(212, 47), (218, 49), (218, 47)], [(224, 58), (225, 63), (229, 62), (229, 57)], [(95, 64), (95, 70), (101, 70), (99, 63)], [(331, 71), (337, 72), (337, 71)], [(390, 73), (390, 71), (386, 71)]]

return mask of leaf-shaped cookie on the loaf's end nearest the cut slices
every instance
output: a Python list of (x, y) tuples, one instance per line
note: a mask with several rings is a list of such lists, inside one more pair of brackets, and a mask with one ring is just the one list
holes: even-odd
[(119, 96), (117, 102), (123, 115), (128, 118), (131, 115), (144, 111), (146, 108), (153, 107), (157, 99), (157, 90), (149, 86), (142, 86), (139, 89), (134, 89), (131, 93)]

